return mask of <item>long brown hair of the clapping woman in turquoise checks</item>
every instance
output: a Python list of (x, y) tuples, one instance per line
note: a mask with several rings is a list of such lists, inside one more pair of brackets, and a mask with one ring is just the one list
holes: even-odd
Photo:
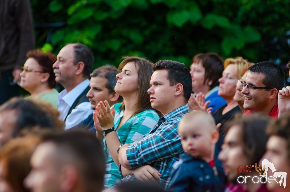
[[(140, 58), (137, 56), (131, 56), (131, 57), (124, 56), (123, 59), (124, 60), (120, 63), (118, 67), (119, 71), (121, 71), (128, 62), (134, 62), (135, 67), (137, 69), (137, 73), (138, 73), (138, 85), (139, 85), (138, 86), (139, 87), (138, 101), (136, 104), (136, 110), (132, 116), (144, 110), (153, 109), (151, 107), (149, 94), (147, 93), (147, 90), (150, 88), (150, 79), (153, 73), (153, 69), (152, 69), (153, 63), (151, 63), (147, 59)], [(123, 109), (125, 109), (124, 100), (120, 106), (120, 110), (123, 110)]]

